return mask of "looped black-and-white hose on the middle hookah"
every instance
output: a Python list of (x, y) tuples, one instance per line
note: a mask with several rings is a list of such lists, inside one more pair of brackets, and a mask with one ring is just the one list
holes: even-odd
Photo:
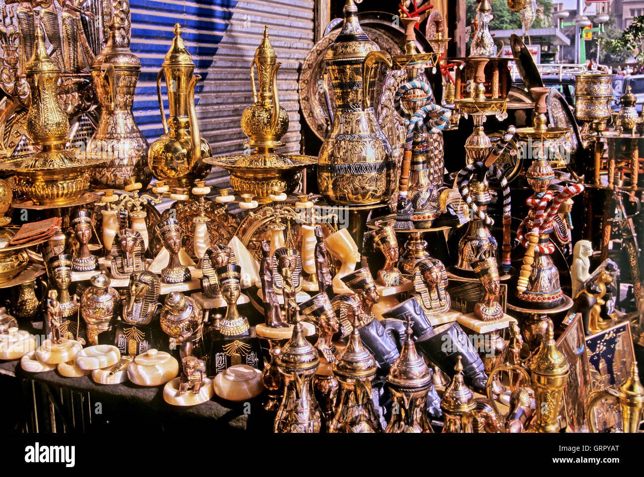
[[(468, 204), (468, 207), (471, 209), (475, 219), (482, 220), (486, 226), (491, 226), (494, 224), (494, 219), (489, 216), (489, 214), (486, 211), (482, 211), (477, 203), (472, 199), (471, 194), (469, 193), (469, 181), (474, 177), (475, 173), (485, 173), (488, 175), (488, 177), (492, 177), (493, 179), (498, 180), (502, 194), (503, 194), (503, 256), (501, 260), (501, 266), (503, 268), (504, 272), (509, 271), (510, 269), (510, 243), (509, 243), (509, 226), (510, 226), (510, 220), (511, 220), (511, 215), (510, 215), (510, 206), (511, 206), (511, 199), (510, 199), (510, 188), (507, 185), (507, 179), (506, 176), (503, 173), (503, 170), (501, 168), (498, 168), (494, 164), (492, 164), (489, 167), (486, 167), (484, 162), (478, 161), (474, 162), (473, 164), (468, 164), (465, 166), (464, 169), (459, 171), (457, 177), (456, 177), (456, 185), (457, 188), (459, 189), (459, 193), (463, 200), (465, 201), (466, 204)], [(507, 227), (507, 233), (506, 233), (506, 227)], [(507, 242), (507, 244), (506, 244)]]

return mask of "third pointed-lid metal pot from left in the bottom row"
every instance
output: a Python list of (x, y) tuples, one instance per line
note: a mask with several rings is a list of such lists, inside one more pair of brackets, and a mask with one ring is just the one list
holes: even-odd
[(431, 391), (431, 371), (416, 351), (412, 340), (412, 320), (407, 317), (407, 339), (401, 355), (387, 375), (392, 394), (392, 416), (385, 433), (433, 433), (427, 418), (427, 398)]

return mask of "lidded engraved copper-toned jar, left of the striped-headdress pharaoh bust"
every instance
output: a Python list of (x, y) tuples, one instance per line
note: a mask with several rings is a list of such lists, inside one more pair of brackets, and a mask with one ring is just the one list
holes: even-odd
[(88, 343), (97, 345), (100, 333), (112, 328), (120, 300), (118, 291), (109, 286), (106, 273), (91, 277), (90, 284), (81, 296), (81, 316), (87, 329)]

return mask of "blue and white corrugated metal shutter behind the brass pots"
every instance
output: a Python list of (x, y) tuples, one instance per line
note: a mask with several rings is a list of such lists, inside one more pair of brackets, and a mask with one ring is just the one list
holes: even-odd
[[(162, 133), (156, 99), (156, 73), (170, 47), (175, 23), (202, 76), (196, 90), (201, 133), (213, 155), (243, 152), (247, 140), (240, 118), (252, 102), (251, 60), (261, 42), (264, 25), (278, 54), (279, 100), (289, 112), (289, 132), (282, 152), (299, 152), (298, 74), (313, 46), (313, 0), (131, 0), (131, 50), (142, 72), (135, 98), (135, 117), (149, 141)], [(165, 86), (162, 88), (165, 92)], [(167, 101), (165, 101), (167, 112)], [(209, 182), (221, 182), (225, 171), (213, 171)]]

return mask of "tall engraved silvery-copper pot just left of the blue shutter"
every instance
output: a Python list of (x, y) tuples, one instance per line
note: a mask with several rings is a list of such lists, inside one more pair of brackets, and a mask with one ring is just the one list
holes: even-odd
[(88, 150), (107, 155), (105, 168), (91, 170), (97, 186), (122, 189), (129, 177), (137, 177), (147, 187), (152, 173), (147, 166), (147, 140), (138, 129), (132, 113), (141, 62), (129, 50), (129, 35), (123, 31), (119, 15), (113, 15), (109, 39), (91, 64), (100, 101), (99, 125)]

